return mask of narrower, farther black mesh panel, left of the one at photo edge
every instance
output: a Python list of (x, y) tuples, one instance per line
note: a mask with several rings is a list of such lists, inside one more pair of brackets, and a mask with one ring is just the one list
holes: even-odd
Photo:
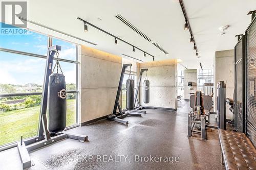
[(234, 47), (234, 122), (233, 127), (238, 132), (245, 132), (244, 128), (244, 74), (243, 74), (243, 63), (244, 63), (244, 36), (238, 41)]

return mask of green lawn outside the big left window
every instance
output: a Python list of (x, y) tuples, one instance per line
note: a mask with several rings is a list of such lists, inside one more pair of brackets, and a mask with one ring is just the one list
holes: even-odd
[[(36, 136), (40, 106), (0, 112), (0, 145)], [(76, 100), (67, 100), (67, 126), (76, 123)]]

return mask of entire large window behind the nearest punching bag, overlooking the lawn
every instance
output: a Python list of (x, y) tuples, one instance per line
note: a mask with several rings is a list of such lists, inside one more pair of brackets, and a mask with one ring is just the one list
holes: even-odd
[(66, 127), (77, 124), (77, 45), (31, 31), (1, 36), (0, 145), (37, 135), (48, 38), (61, 46), (60, 65), (67, 86)]

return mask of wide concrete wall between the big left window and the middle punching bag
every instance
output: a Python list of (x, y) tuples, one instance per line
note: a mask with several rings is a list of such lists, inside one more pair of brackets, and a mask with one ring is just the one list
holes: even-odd
[(79, 57), (79, 123), (83, 123), (113, 111), (122, 58), (83, 45)]

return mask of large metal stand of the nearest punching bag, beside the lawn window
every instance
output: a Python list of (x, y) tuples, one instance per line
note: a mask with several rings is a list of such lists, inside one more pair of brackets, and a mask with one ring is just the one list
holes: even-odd
[(36, 149), (45, 147), (46, 145), (52, 144), (54, 142), (57, 142), (59, 140), (66, 139), (66, 138), (76, 139), (76, 140), (79, 140), (80, 142), (87, 141), (88, 139), (88, 136), (86, 135), (71, 134), (65, 131), (61, 133), (50, 133), (47, 130), (46, 111), (47, 111), (49, 76), (52, 73), (54, 55), (57, 51), (60, 51), (60, 50), (61, 50), (61, 46), (59, 45), (48, 47), (44, 86), (42, 91), (41, 108), (40, 108), (40, 115), (39, 115), (38, 134), (36, 137), (30, 138), (24, 141), (23, 141), (23, 138), (21, 137), (21, 140), (17, 142), (17, 149), (18, 149), (20, 161), (22, 162), (23, 168), (29, 168), (32, 166), (29, 153)]

